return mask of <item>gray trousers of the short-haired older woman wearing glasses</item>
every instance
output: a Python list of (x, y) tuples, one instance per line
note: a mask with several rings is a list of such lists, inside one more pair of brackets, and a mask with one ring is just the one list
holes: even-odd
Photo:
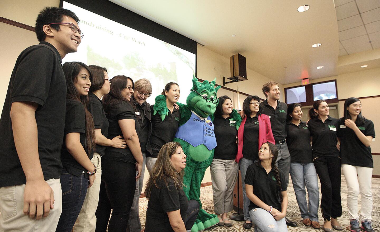
[(140, 232), (141, 231), (141, 221), (139, 215), (139, 199), (142, 191), (142, 184), (144, 182), (144, 172), (145, 172), (145, 153), (142, 153), (142, 162), (141, 176), (136, 182), (135, 196), (133, 197), (133, 204), (131, 211), (129, 213), (128, 227), (127, 232)]

